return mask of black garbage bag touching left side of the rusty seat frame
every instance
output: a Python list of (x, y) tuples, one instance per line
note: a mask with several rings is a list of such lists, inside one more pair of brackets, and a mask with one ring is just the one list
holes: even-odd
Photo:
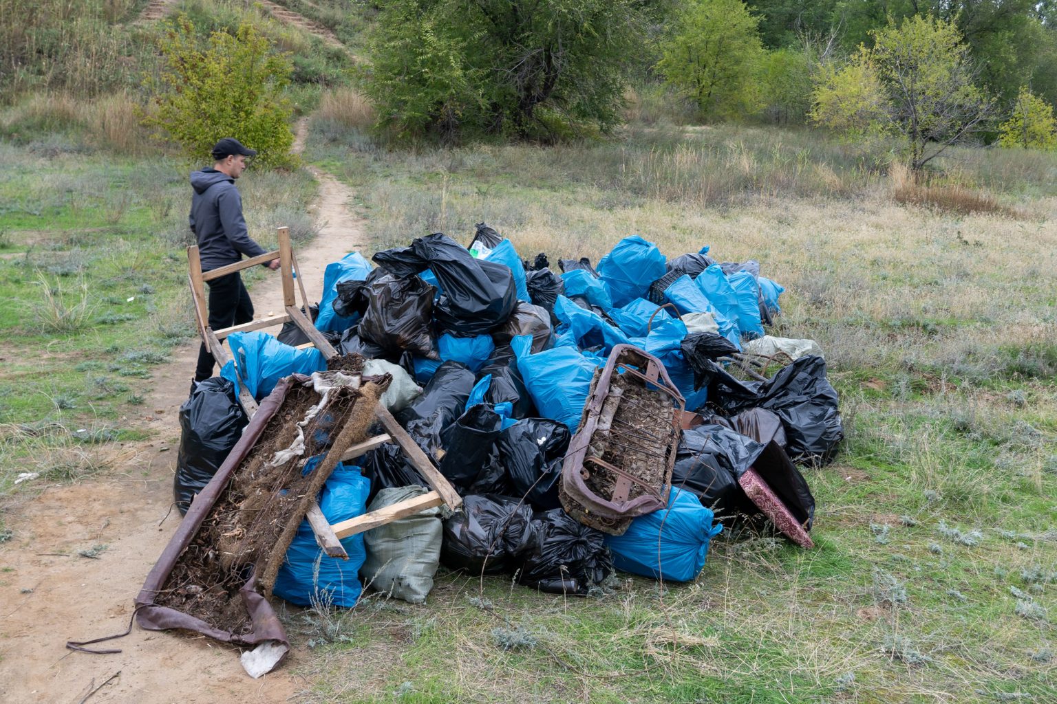
[(496, 455), (513, 495), (523, 496), (536, 510), (560, 508), (558, 480), (571, 438), (564, 423), (548, 418), (525, 418), (500, 433)]

